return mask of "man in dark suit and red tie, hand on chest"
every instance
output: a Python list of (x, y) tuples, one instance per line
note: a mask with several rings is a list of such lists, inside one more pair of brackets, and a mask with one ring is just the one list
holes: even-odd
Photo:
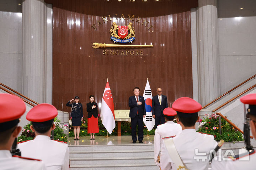
[(136, 126), (138, 124), (138, 140), (143, 143), (143, 118), (146, 117), (145, 100), (143, 96), (139, 96), (139, 87), (133, 89), (134, 96), (129, 97), (129, 107), (132, 126), (132, 140), (136, 143)]

